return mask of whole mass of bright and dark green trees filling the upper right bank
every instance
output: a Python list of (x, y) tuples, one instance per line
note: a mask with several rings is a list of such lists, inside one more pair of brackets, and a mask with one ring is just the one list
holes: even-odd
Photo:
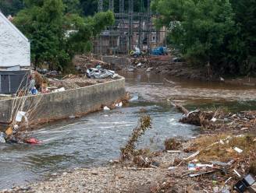
[(255, 75), (256, 2), (253, 0), (153, 0), (156, 26), (168, 26), (169, 43), (191, 64), (219, 74)]

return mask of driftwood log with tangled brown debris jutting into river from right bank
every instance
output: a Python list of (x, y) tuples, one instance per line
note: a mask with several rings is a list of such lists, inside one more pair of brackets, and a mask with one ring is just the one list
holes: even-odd
[(181, 113), (183, 113), (183, 118), (180, 119), (180, 122), (190, 125), (197, 126), (206, 126), (209, 124), (209, 121), (214, 117), (214, 113), (212, 111), (188, 111), (185, 107), (180, 104), (172, 103), (174, 107)]

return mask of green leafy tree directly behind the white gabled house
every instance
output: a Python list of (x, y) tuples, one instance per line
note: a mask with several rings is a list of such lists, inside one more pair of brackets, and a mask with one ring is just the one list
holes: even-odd
[(114, 22), (112, 12), (85, 19), (66, 12), (62, 0), (26, 0), (25, 5), (14, 23), (31, 40), (34, 65), (50, 69), (66, 68), (74, 54), (88, 51), (92, 38)]

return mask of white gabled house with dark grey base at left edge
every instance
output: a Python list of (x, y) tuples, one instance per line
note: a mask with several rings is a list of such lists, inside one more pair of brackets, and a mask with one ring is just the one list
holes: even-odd
[(0, 93), (16, 93), (29, 72), (30, 41), (0, 11)]

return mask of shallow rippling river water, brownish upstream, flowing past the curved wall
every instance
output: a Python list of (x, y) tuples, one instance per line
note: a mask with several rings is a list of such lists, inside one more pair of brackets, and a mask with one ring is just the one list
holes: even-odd
[(180, 101), (190, 110), (219, 106), (229, 107), (230, 111), (256, 110), (253, 87), (171, 79), (151, 73), (119, 73), (126, 77), (126, 89), (133, 96), (128, 107), (42, 125), (30, 132), (43, 141), (38, 146), (0, 144), (0, 189), (115, 160), (137, 125), (141, 108), (151, 115), (153, 127), (142, 137), (139, 147), (163, 149), (167, 137), (197, 135), (197, 127), (178, 122), (181, 114), (167, 99)]

